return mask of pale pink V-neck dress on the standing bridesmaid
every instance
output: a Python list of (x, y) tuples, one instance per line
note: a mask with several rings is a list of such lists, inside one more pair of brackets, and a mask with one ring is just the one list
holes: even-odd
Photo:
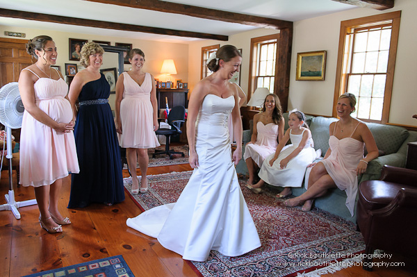
[(127, 72), (123, 72), (123, 99), (120, 103), (122, 134), (118, 134), (123, 148), (149, 149), (160, 146), (154, 131), (154, 108), (151, 92), (154, 81), (145, 74), (142, 85), (136, 83)]

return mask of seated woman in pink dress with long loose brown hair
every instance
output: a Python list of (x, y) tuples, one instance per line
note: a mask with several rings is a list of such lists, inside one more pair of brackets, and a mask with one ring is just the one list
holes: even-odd
[(269, 94), (263, 102), (262, 112), (254, 116), (254, 126), (250, 142), (245, 146), (245, 159), (249, 171), (248, 185), (254, 184), (256, 171), (263, 160), (277, 149), (278, 140), (284, 137), (284, 117), (281, 102), (276, 94)]

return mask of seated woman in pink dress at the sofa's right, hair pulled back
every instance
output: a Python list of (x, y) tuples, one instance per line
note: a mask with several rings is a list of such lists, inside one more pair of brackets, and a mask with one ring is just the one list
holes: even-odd
[[(325, 195), (328, 189), (338, 187), (347, 194), (346, 206), (353, 217), (354, 201), (358, 190), (359, 174), (366, 171), (368, 162), (378, 157), (377, 144), (366, 124), (350, 116), (354, 112), (356, 98), (351, 93), (342, 94), (338, 98), (336, 112), (339, 121), (329, 127), (329, 150), (325, 158), (311, 169), (309, 186), (304, 194), (288, 199), (284, 204), (288, 207), (301, 205), (302, 210), (311, 210), (313, 199)], [(363, 158), (363, 146), (368, 155)]]

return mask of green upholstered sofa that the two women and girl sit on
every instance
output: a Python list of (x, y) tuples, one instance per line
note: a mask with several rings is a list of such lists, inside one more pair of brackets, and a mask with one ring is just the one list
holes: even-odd
[[(285, 131), (288, 129), (288, 113), (284, 113)], [(315, 144), (315, 149), (321, 149), (322, 156), (325, 156), (327, 149), (329, 149), (329, 125), (337, 121), (334, 117), (312, 117), (306, 115), (306, 123), (309, 125), (311, 135)], [(409, 142), (417, 141), (417, 132), (407, 131), (407, 129), (400, 126), (366, 123), (370, 131), (373, 133), (375, 142), (379, 149), (379, 157), (369, 162), (368, 169), (364, 174), (358, 176), (358, 183), (367, 180), (377, 180), (381, 176), (381, 169), (384, 165), (391, 165), (394, 167), (405, 167), (407, 156), (407, 144)], [(243, 144), (250, 141), (252, 135), (251, 130), (243, 131)], [(245, 148), (243, 147), (243, 152)], [(317, 160), (318, 161), (318, 160)], [(240, 160), (236, 166), (238, 174), (247, 175), (247, 167), (245, 160)], [(305, 180), (304, 180), (305, 182)], [(293, 195), (299, 196), (304, 193), (306, 189), (304, 184), (302, 187), (293, 188)], [(358, 199), (358, 197), (357, 197)], [(314, 205), (322, 210), (331, 212), (356, 222), (356, 205), (354, 216), (350, 215), (349, 210), (345, 206), (346, 194), (342, 190), (332, 189), (314, 202)]]

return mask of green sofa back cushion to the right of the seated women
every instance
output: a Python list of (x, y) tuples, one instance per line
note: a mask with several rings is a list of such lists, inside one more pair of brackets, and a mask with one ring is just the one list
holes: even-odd
[(397, 153), (402, 142), (409, 136), (409, 131), (400, 126), (377, 123), (366, 123), (366, 126), (373, 134), (378, 149), (384, 151), (385, 155)]

